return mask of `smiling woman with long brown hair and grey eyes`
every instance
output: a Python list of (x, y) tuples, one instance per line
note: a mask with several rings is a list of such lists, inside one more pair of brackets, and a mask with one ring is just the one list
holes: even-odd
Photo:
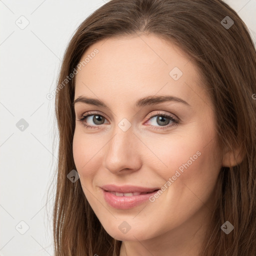
[(256, 53), (220, 0), (111, 0), (56, 88), (55, 255), (256, 255)]

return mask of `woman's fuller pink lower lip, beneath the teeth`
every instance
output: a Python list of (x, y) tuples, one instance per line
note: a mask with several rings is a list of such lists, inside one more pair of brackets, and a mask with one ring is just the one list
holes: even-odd
[(103, 190), (103, 195), (105, 201), (116, 209), (130, 209), (133, 208), (142, 202), (149, 200), (149, 197), (154, 195), (156, 191), (147, 194), (139, 194), (139, 195), (132, 195), (132, 196), (116, 196), (109, 191)]

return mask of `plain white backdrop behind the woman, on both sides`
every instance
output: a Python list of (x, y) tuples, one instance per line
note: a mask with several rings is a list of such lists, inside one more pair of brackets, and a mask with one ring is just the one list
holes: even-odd
[[(106, 1), (106, 0), (105, 0)], [(256, 0), (226, 0), (256, 41)], [(53, 91), (65, 47), (103, 0), (0, 0), (0, 255), (53, 255)], [(255, 92), (256, 93), (256, 92)], [(53, 180), (54, 181), (54, 180)], [(48, 215), (47, 215), (48, 213)]]

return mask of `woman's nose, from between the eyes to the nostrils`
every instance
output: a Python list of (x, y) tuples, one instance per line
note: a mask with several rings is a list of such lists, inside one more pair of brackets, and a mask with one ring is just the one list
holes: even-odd
[(140, 169), (141, 144), (137, 135), (133, 133), (132, 126), (123, 131), (116, 125), (105, 147), (104, 167), (115, 174)]

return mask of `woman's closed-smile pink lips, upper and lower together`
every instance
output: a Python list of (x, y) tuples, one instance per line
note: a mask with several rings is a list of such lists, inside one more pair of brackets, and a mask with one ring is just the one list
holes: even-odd
[[(115, 186), (115, 185), (105, 185), (102, 186), (102, 192), (105, 201), (116, 209), (129, 209), (133, 208), (142, 202), (149, 199), (159, 188), (146, 188), (138, 186)], [(129, 193), (129, 192), (148, 192), (147, 194), (139, 194), (132, 196), (116, 196), (110, 191), (119, 192), (119, 193)]]

